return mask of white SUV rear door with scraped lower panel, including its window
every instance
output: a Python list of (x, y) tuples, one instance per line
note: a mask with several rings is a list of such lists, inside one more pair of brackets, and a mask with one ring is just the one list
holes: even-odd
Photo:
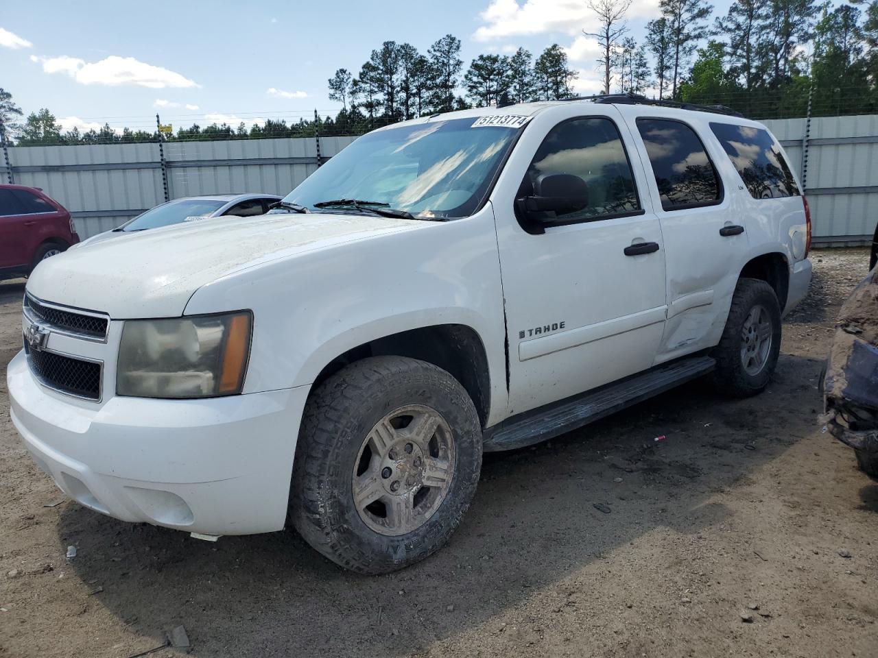
[(748, 252), (746, 220), (734, 211), (715, 165), (725, 154), (700, 115), (623, 111), (639, 136), (665, 240), (668, 308), (659, 363), (718, 342)]

